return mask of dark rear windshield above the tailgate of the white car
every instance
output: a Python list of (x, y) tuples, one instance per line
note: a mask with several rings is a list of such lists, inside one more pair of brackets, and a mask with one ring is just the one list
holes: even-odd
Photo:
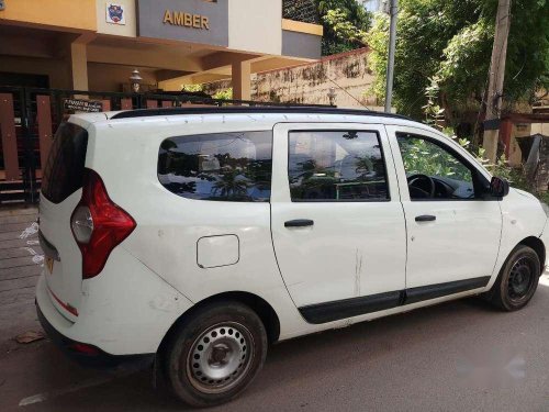
[(88, 132), (72, 123), (61, 123), (44, 168), (42, 194), (60, 203), (82, 187)]

